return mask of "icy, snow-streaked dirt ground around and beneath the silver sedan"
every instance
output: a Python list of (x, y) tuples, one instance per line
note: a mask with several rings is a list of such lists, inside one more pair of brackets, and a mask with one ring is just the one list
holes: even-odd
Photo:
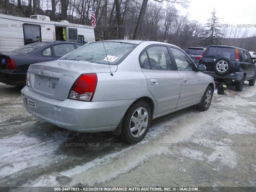
[(0, 83), (0, 187), (256, 187), (256, 86), (228, 89), (240, 96), (215, 90), (208, 111), (153, 120), (126, 144), (46, 123), (26, 112), (21, 88)]

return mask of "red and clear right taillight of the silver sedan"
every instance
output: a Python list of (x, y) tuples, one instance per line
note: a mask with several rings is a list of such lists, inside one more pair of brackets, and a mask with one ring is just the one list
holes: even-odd
[(68, 98), (81, 101), (92, 101), (97, 82), (98, 78), (96, 73), (80, 75), (74, 82)]

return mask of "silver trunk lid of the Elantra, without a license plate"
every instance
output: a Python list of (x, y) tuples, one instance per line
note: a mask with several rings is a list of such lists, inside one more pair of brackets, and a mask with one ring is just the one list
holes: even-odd
[(110, 73), (117, 66), (84, 61), (56, 60), (30, 65), (28, 87), (31, 91), (57, 100), (66, 100), (74, 82), (81, 74)]

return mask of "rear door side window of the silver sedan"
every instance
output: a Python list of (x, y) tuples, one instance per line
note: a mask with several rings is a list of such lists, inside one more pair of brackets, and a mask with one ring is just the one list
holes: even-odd
[(140, 65), (145, 69), (173, 70), (170, 54), (165, 46), (148, 48), (140, 57)]

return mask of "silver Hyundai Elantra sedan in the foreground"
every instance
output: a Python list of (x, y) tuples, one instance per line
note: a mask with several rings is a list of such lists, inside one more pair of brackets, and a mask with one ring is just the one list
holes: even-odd
[(56, 126), (113, 131), (136, 143), (152, 119), (193, 105), (208, 110), (215, 83), (205, 69), (167, 43), (93, 42), (31, 64), (22, 99), (28, 112)]

